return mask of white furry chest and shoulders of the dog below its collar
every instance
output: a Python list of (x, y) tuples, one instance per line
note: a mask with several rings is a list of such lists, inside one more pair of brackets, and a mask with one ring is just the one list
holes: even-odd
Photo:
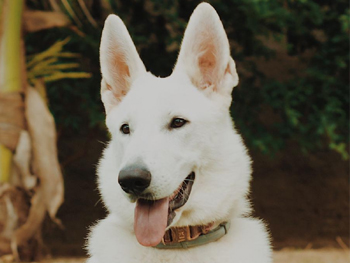
[(157, 249), (141, 246), (130, 230), (117, 227), (107, 218), (100, 221), (92, 231), (89, 247), (93, 248), (94, 261), (91, 262), (271, 262), (265, 226), (254, 219), (235, 218), (233, 220), (229, 233), (216, 242), (190, 249)]

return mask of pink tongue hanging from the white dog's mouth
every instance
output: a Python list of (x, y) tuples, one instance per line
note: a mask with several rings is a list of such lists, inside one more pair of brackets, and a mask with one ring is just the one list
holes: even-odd
[(168, 221), (169, 198), (157, 201), (137, 200), (134, 230), (137, 241), (152, 247), (162, 240)]

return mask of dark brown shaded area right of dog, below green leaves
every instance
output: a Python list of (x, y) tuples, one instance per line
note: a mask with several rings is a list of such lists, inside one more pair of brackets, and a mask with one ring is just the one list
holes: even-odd
[(274, 159), (252, 154), (252, 203), (275, 249), (349, 247), (349, 164), (327, 151), (296, 148)]

